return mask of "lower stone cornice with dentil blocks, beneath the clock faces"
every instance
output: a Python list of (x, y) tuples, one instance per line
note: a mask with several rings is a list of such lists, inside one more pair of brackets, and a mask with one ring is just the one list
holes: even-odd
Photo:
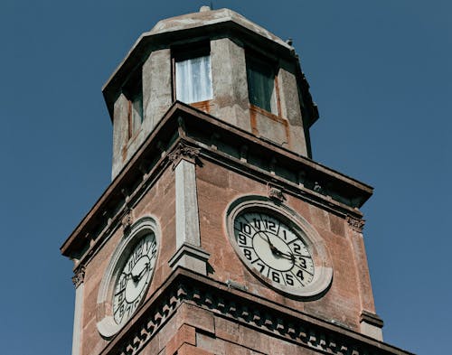
[(215, 316), (246, 324), (258, 332), (268, 333), (318, 353), (410, 354), (332, 322), (178, 268), (108, 343), (101, 355), (139, 353), (184, 303), (197, 305)]

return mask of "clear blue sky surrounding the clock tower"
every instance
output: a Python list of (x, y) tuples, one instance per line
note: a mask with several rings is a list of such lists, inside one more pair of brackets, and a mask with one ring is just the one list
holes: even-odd
[[(69, 354), (59, 247), (107, 188), (100, 88), (140, 33), (202, 1), (2, 0), (0, 348)], [(293, 38), (320, 111), (315, 161), (375, 187), (364, 237), (385, 341), (443, 354), (452, 323), (450, 1), (213, 1)]]

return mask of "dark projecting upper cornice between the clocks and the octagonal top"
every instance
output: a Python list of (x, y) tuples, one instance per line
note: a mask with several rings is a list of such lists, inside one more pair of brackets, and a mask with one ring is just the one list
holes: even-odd
[[(231, 145), (229, 151), (225, 153), (216, 146), (212, 147), (212, 136), (221, 136), (222, 145)], [(183, 145), (179, 145), (179, 153), (175, 153), (177, 150), (174, 149), (181, 142)], [(247, 147), (248, 161), (242, 156), (243, 146)], [(237, 156), (231, 155), (234, 151), (237, 151)], [(159, 174), (172, 163), (170, 156), (185, 155), (190, 159), (199, 159), (198, 154), (199, 157), (216, 159), (217, 163), (233, 165), (235, 170), (250, 177), (260, 176), (262, 182), (271, 182), (272, 186), (281, 192), (287, 190), (303, 195), (305, 199), (316, 201), (325, 208), (357, 219), (362, 217), (357, 207), (372, 195), (372, 188), (362, 182), (263, 141), (193, 107), (176, 102), (63, 243), (61, 253), (80, 260), (88, 249), (92, 252), (93, 244), (99, 245), (99, 234), (117, 228), (118, 214), (124, 216), (125, 209), (131, 208), (131, 204), (137, 201), (137, 196), (155, 182)], [(265, 161), (262, 166), (250, 163), (256, 154), (274, 157), (272, 161), (278, 162), (278, 165), (266, 166)], [(276, 171), (270, 172), (270, 168)], [(281, 175), (281, 169), (285, 169), (286, 173)], [(292, 181), (287, 180), (288, 175), (294, 176)], [(315, 184), (319, 183), (325, 185), (325, 188), (315, 190)], [(131, 186), (137, 186), (135, 191), (128, 191)]]

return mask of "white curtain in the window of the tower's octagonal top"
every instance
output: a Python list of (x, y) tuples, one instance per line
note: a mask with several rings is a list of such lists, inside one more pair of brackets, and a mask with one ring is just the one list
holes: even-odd
[(175, 62), (175, 96), (186, 104), (212, 98), (210, 55)]

